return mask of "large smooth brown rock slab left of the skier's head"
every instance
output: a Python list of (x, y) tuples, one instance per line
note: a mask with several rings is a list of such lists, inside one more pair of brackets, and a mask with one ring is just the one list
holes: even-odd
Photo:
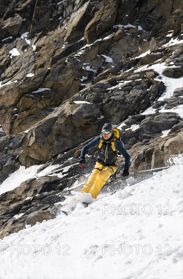
[(100, 110), (95, 104), (64, 102), (32, 127), (22, 144), (19, 160), (30, 166), (77, 146), (99, 131)]

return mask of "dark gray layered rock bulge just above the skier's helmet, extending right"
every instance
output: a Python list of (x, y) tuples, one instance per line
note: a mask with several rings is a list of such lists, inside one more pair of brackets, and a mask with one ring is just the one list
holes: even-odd
[[(125, 86), (114, 89), (113, 95), (109, 93), (104, 101), (102, 114), (106, 120), (113, 123), (119, 123), (130, 114), (139, 114), (145, 110), (151, 101), (154, 101), (164, 90), (162, 83), (151, 83), (146, 81), (129, 82), (127, 87), (131, 90), (124, 92)], [(129, 90), (129, 89), (128, 89)], [(129, 92), (129, 93), (128, 93)], [(116, 95), (117, 94), (117, 95)]]

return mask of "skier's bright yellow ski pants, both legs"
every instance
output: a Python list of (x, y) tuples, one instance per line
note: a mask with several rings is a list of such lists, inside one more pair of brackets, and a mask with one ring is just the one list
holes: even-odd
[(113, 175), (116, 169), (116, 166), (104, 166), (96, 162), (94, 170), (91, 172), (80, 193), (90, 193), (93, 198), (97, 198), (101, 188), (110, 176)]

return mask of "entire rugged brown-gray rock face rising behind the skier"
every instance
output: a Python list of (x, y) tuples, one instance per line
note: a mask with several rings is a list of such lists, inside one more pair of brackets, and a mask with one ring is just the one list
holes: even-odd
[[(0, 12), (0, 183), (21, 165), (76, 163), (105, 122), (121, 124), (131, 171), (182, 152), (181, 0), (0, 0)], [(1, 237), (55, 218), (84, 179), (76, 165), (3, 193)]]

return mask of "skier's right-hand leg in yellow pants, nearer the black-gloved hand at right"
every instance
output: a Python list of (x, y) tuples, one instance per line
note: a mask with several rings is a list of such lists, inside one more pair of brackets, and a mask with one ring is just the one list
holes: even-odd
[(94, 185), (90, 188), (89, 193), (93, 198), (97, 198), (101, 188), (104, 186), (105, 182), (113, 175), (116, 171), (115, 166), (106, 166), (103, 170), (98, 173)]

